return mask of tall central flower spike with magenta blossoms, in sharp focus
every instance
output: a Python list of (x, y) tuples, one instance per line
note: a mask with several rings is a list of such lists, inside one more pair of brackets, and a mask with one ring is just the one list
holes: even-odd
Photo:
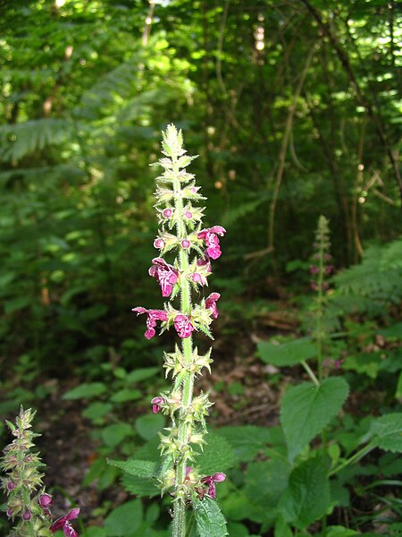
[[(173, 353), (164, 354), (163, 367), (166, 377), (172, 376), (172, 390), (155, 396), (151, 403), (154, 413), (161, 410), (172, 419), (168, 434), (161, 434), (163, 472), (159, 480), (162, 492), (169, 490), (173, 498), (172, 536), (185, 537), (188, 505), (195, 499), (203, 499), (205, 494), (214, 499), (214, 482), (225, 478), (223, 473), (200, 476), (188, 466), (197, 456), (194, 447), (205, 443), (205, 416), (212, 405), (206, 394), (193, 394), (195, 379), (205, 369), (211, 371), (212, 362), (211, 349), (205, 355), (198, 354), (193, 337), (197, 332), (212, 337), (209, 327), (218, 317), (216, 303), (220, 298), (220, 294), (212, 293), (193, 303), (192, 290), (207, 286), (211, 260), (218, 259), (222, 253), (218, 235), (225, 234), (225, 229), (202, 228), (204, 209), (197, 207), (197, 202), (205, 198), (198, 192), (194, 175), (187, 171), (195, 157), (186, 154), (181, 132), (172, 124), (163, 132), (162, 152), (164, 157), (158, 165), (163, 173), (156, 179), (155, 192), (160, 229), (154, 246), (159, 250), (159, 257), (152, 260), (149, 274), (155, 277), (168, 301), (163, 310), (138, 306), (133, 311), (147, 313), (148, 339), (155, 336), (158, 320), (162, 332), (173, 327), (180, 338), (180, 346), (176, 345)], [(172, 264), (164, 259), (170, 252), (176, 254)], [(180, 309), (176, 307), (177, 302)], [(218, 479), (214, 479), (216, 476)]]

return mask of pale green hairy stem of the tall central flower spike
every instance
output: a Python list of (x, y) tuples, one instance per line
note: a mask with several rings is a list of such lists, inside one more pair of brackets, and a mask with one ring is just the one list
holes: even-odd
[[(172, 162), (173, 174), (177, 176), (179, 172), (177, 166), (177, 158), (172, 158)], [(181, 188), (179, 179), (174, 181), (173, 190), (176, 194), (180, 192)], [(183, 212), (183, 202), (180, 195), (175, 196), (175, 209), (180, 215), (177, 224), (177, 236), (181, 240), (185, 237), (187, 230), (181, 217)], [(186, 273), (188, 271), (188, 252), (182, 248), (180, 248), (179, 252), (179, 261), (180, 272)], [(191, 313), (191, 290), (187, 278), (182, 278), (182, 280), (180, 281), (180, 304), (181, 311), (184, 315), (188, 315)], [(190, 336), (183, 339), (181, 341), (181, 348), (184, 356), (184, 362), (189, 366), (192, 362), (193, 338)], [(188, 436), (191, 425), (185, 422), (185, 416), (193, 398), (193, 387), (194, 373), (188, 371), (183, 379), (181, 389), (181, 407), (179, 413), (178, 438), (180, 441), (180, 447), (182, 448), (182, 452), (178, 457), (176, 467), (176, 499), (174, 501), (173, 508), (172, 537), (185, 537), (186, 535), (186, 505), (184, 503), (184, 499), (182, 499), (180, 497), (180, 494), (178, 495), (177, 492), (180, 490), (180, 487), (182, 486), (186, 478), (186, 467), (188, 460)]]

